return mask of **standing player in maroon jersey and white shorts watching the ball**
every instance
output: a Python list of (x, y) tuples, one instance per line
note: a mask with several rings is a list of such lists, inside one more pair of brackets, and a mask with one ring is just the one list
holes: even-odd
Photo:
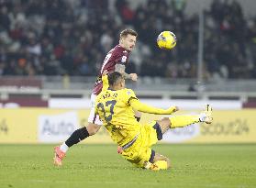
[[(120, 33), (119, 44), (112, 50), (110, 50), (106, 54), (106, 58), (103, 61), (101, 70), (97, 77), (97, 81), (95, 83), (95, 88), (93, 90), (93, 94), (91, 95), (91, 112), (88, 117), (88, 125), (87, 127), (81, 127), (75, 130), (71, 137), (68, 138), (65, 142), (61, 144), (61, 146), (54, 148), (54, 164), (60, 166), (62, 165), (62, 160), (65, 157), (67, 150), (72, 147), (72, 145), (77, 144), (84, 138), (95, 135), (95, 133), (100, 129), (102, 122), (99, 119), (99, 116), (95, 115), (95, 98), (96, 95), (99, 94), (102, 90), (102, 74), (104, 72), (120, 72), (124, 75), (126, 79), (130, 79), (132, 81), (137, 81), (136, 73), (127, 73), (125, 72), (126, 65), (128, 63), (129, 53), (134, 49), (137, 39), (137, 32), (132, 29), (125, 29)], [(136, 112), (136, 117), (139, 121), (140, 114)]]

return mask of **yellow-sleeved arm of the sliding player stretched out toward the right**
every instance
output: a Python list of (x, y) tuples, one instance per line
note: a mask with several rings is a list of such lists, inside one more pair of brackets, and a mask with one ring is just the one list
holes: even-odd
[(139, 112), (145, 112), (145, 113), (155, 114), (155, 115), (171, 115), (173, 114), (173, 112), (178, 111), (177, 106), (171, 106), (168, 109), (161, 109), (161, 108), (143, 104), (139, 102), (138, 99), (131, 99), (129, 101), (129, 104)]

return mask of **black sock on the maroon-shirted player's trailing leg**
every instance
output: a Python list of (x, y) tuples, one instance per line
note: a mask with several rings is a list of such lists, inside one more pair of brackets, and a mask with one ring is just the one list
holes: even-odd
[(71, 137), (65, 141), (65, 144), (70, 148), (70, 147), (72, 147), (72, 145), (77, 144), (78, 142), (82, 141), (84, 138), (87, 138), (89, 136), (90, 135), (89, 135), (86, 127), (82, 127), (82, 128), (75, 130), (72, 133)]

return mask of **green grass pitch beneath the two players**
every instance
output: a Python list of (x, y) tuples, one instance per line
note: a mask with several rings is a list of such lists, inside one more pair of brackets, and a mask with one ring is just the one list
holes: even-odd
[(52, 145), (0, 145), (1, 188), (256, 187), (256, 145), (157, 145), (173, 168), (134, 168), (115, 145), (76, 145), (61, 168)]

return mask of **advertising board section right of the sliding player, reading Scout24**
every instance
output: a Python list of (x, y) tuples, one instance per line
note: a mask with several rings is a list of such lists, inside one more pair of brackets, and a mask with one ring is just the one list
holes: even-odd
[[(195, 114), (191, 111), (178, 112), (176, 115)], [(164, 143), (255, 143), (256, 110), (215, 110), (212, 124), (194, 124), (169, 130), (163, 135)], [(159, 119), (161, 116), (143, 115), (146, 119)]]

